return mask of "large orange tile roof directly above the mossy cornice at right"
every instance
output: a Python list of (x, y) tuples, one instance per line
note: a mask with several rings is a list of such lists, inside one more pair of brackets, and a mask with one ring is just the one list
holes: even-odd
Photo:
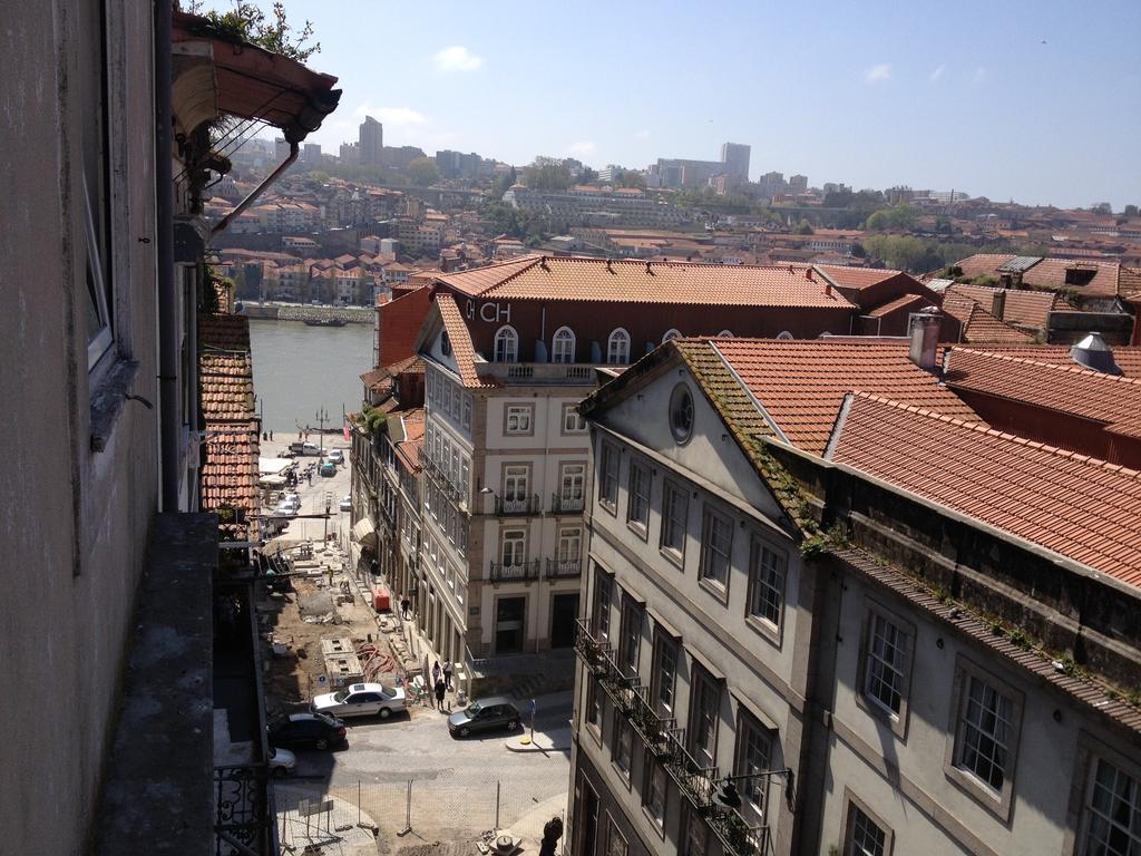
[(1141, 475), (885, 398), (855, 395), (830, 458), (1141, 584)]

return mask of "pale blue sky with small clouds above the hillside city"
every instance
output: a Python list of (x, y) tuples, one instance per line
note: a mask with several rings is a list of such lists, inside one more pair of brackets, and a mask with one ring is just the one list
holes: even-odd
[[(222, 3), (217, 2), (215, 6)], [(264, 2), (267, 6), (268, 2)], [(1141, 2), (286, 0), (341, 107), (314, 139), (1141, 204)]]

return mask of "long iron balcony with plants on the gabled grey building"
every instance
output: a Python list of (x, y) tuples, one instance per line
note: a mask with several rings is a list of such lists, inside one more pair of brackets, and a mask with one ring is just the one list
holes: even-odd
[(653, 753), (678, 790), (709, 823), (730, 856), (769, 856), (771, 839), (767, 825), (751, 825), (737, 809), (723, 808), (713, 796), (720, 783), (717, 767), (694, 758), (688, 749), (686, 729), (677, 719), (663, 717), (649, 701), (648, 688), (638, 676), (624, 673), (614, 648), (594, 638), (584, 620), (577, 622), (575, 653), (598, 679), (614, 708), (630, 724), (633, 733)]

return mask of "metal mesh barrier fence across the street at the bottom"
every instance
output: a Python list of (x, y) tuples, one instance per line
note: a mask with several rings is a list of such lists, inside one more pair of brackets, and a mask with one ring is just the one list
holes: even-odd
[(500, 778), (494, 769), (462, 785), (443, 776), (347, 785), (283, 780), (275, 788), (281, 854), (373, 834), (428, 843), (474, 841), (501, 830), (537, 838), (543, 823), (563, 816), (565, 800), (544, 813), (533, 791), (533, 783)]

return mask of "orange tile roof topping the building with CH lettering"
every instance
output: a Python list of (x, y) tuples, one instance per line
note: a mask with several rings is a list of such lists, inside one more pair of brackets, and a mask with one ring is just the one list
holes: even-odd
[[(852, 309), (804, 266), (703, 265), (528, 256), (436, 277), (471, 297), (686, 306)], [(831, 292), (831, 293), (827, 293)]]

